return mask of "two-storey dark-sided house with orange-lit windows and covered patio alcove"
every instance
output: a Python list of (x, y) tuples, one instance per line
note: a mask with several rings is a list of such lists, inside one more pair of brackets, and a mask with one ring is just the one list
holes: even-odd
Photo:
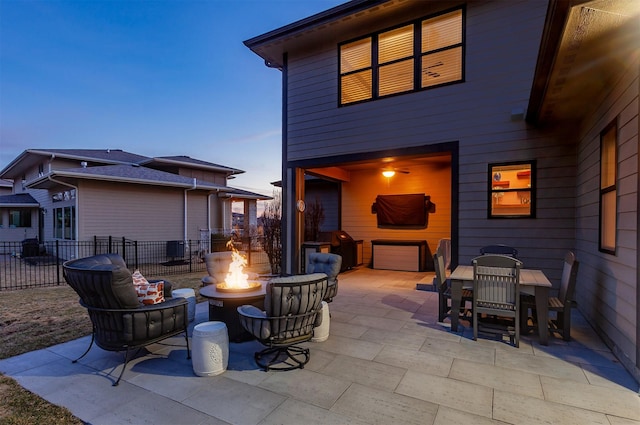
[[(557, 284), (574, 250), (578, 308), (640, 380), (639, 21), (639, 1), (354, 0), (245, 41), (282, 72), (284, 270), (305, 175), (339, 182), (367, 262), (379, 238), (451, 238), (454, 266), (504, 243)], [(376, 222), (398, 194), (431, 196), (426, 227)]]

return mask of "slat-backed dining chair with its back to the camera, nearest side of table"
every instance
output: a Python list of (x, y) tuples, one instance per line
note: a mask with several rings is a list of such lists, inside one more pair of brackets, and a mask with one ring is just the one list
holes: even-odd
[[(522, 263), (505, 255), (481, 255), (473, 264), (473, 339), (478, 339), (481, 318), (486, 314), (502, 320), (513, 319), (514, 326), (500, 326), (492, 320), (483, 332), (509, 335), (520, 346), (520, 268)], [(492, 318), (493, 319), (493, 318)]]

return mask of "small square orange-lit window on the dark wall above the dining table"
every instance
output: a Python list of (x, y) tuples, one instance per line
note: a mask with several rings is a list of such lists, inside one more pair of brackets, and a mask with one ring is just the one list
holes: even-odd
[(489, 164), (489, 218), (535, 217), (535, 161)]

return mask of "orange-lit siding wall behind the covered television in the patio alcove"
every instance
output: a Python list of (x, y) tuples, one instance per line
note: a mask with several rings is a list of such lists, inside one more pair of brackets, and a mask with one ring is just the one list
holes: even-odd
[[(363, 261), (371, 263), (374, 239), (426, 240), (431, 254), (438, 241), (451, 237), (451, 168), (411, 167), (409, 174), (396, 173), (387, 179), (380, 170), (351, 173), (351, 181), (342, 185), (342, 228), (356, 240), (364, 241)], [(436, 212), (429, 214), (424, 229), (379, 228), (371, 205), (378, 195), (424, 193), (431, 196)], [(427, 261), (431, 264), (433, 261)]]

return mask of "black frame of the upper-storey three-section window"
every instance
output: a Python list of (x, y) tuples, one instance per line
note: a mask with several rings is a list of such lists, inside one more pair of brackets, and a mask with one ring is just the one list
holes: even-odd
[[(421, 48), (421, 43), (422, 43), (422, 22), (429, 20), (429, 19), (433, 19), (433, 18), (437, 18), (439, 16), (442, 15), (446, 15), (448, 13), (451, 12), (455, 12), (455, 11), (461, 11), (462, 12), (462, 34), (461, 34), (461, 42), (457, 43), (457, 44), (453, 44), (450, 46), (447, 46), (445, 48), (440, 48), (440, 49), (436, 49), (433, 51), (428, 51), (428, 52), (422, 52), (422, 48)], [(421, 92), (421, 91), (426, 91), (426, 90), (433, 90), (435, 88), (439, 88), (439, 87), (444, 87), (444, 86), (449, 86), (449, 85), (453, 85), (453, 84), (461, 84), (465, 82), (465, 69), (466, 69), (466, 61), (465, 61), (465, 57), (466, 57), (466, 22), (467, 22), (467, 8), (466, 5), (461, 5), (461, 6), (456, 6), (456, 7), (452, 7), (437, 13), (433, 13), (427, 16), (423, 16), (421, 18), (418, 19), (414, 19), (412, 21), (408, 21), (408, 22), (403, 22), (401, 24), (389, 27), (389, 28), (385, 28), (383, 30), (380, 31), (376, 31), (374, 33), (370, 33), (367, 34), (365, 36), (361, 36), (358, 38), (353, 38), (347, 41), (343, 41), (341, 43), (338, 44), (338, 107), (345, 107), (345, 106), (351, 106), (351, 105), (357, 105), (360, 103), (364, 103), (364, 102), (371, 102), (371, 101), (375, 101), (375, 100), (379, 100), (379, 99), (386, 99), (389, 97), (393, 97), (393, 96), (401, 96), (404, 94), (408, 94), (408, 93), (416, 93), (416, 92)], [(379, 70), (380, 68), (393, 64), (393, 63), (397, 63), (397, 62), (401, 62), (404, 60), (407, 60), (407, 58), (401, 58), (401, 59), (397, 59), (394, 61), (390, 61), (390, 62), (385, 62), (383, 64), (378, 63), (378, 40), (379, 40), (379, 36), (381, 34), (387, 33), (389, 31), (393, 31), (399, 28), (402, 28), (404, 26), (407, 25), (413, 25), (413, 56), (411, 56), (413, 58), (413, 89), (411, 90), (405, 90), (402, 92), (396, 92), (396, 93), (391, 93), (391, 94), (386, 94), (386, 95), (382, 95), (380, 96), (379, 93)], [(362, 68), (362, 69), (358, 69), (355, 71), (350, 71), (350, 72), (345, 72), (342, 73), (341, 69), (342, 69), (342, 54), (341, 54), (341, 49), (342, 46), (350, 44), (350, 43), (354, 43), (356, 41), (361, 41), (361, 40), (365, 40), (367, 38), (371, 39), (371, 65), (369, 67), (366, 68)], [(460, 80), (456, 80), (456, 81), (448, 81), (445, 83), (441, 83), (441, 84), (435, 84), (432, 86), (427, 86), (427, 87), (421, 87), (421, 75), (422, 75), (422, 59), (424, 56), (429, 55), (429, 54), (433, 54), (433, 53), (438, 53), (441, 51), (446, 51), (446, 50), (453, 50), (460, 47), (462, 49), (461, 55), (461, 76), (460, 76)], [(357, 72), (361, 72), (365, 69), (370, 69), (371, 70), (371, 97), (367, 98), (367, 99), (362, 99), (362, 100), (357, 100), (357, 101), (353, 101), (353, 102), (348, 102), (348, 103), (342, 103), (342, 77), (346, 76), (346, 75), (350, 75), (350, 74), (355, 74)]]

